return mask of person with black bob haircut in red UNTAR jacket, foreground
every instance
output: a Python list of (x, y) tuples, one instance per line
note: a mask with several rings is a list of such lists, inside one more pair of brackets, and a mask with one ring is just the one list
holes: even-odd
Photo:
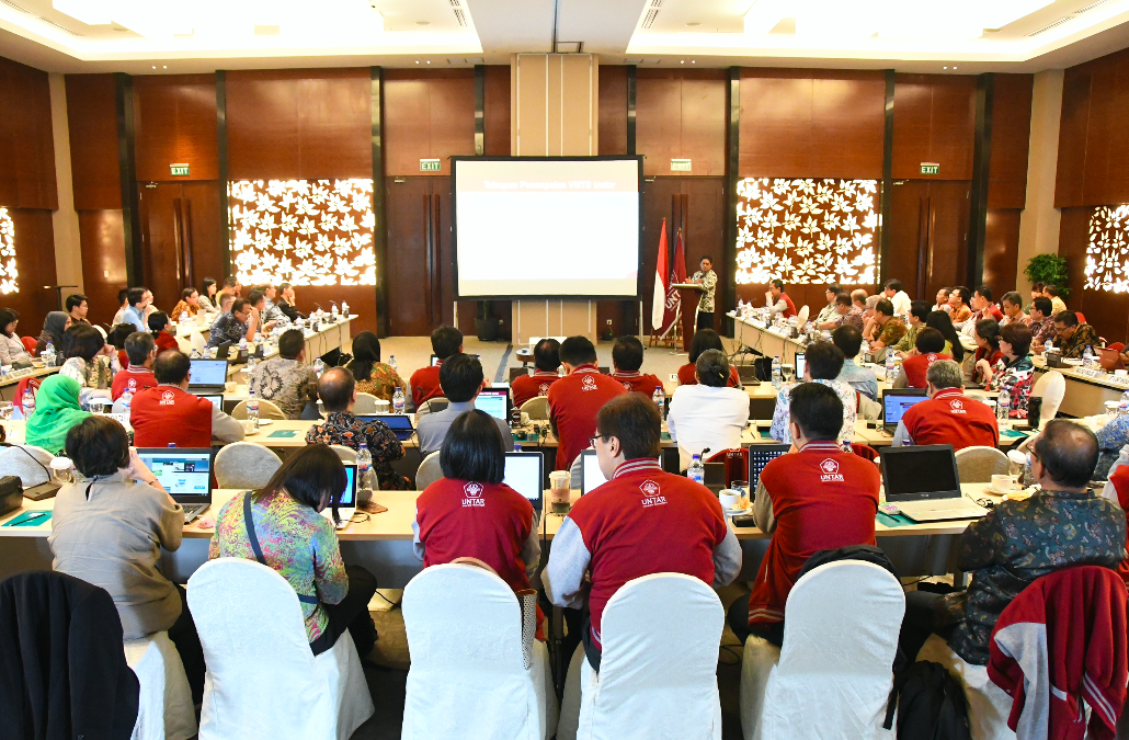
[[(515, 592), (530, 589), (541, 566), (537, 516), (530, 500), (502, 482), (506, 434), (485, 411), (460, 413), (439, 453), (443, 478), (415, 499), (412, 547), (425, 568), (457, 558), (490, 566)], [(467, 498), (478, 505), (467, 506)], [(544, 639), (537, 607), (537, 638)]]

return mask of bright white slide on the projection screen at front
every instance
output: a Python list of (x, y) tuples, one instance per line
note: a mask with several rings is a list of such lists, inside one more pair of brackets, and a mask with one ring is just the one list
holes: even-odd
[(460, 297), (637, 297), (638, 159), (453, 167)]

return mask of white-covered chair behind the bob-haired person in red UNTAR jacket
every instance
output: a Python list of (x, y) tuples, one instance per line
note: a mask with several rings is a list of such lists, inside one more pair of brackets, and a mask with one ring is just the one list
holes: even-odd
[(530, 625), (523, 630), (505, 581), (472, 565), (435, 565), (404, 589), (402, 609), (412, 655), (403, 740), (553, 735), (549, 651)]

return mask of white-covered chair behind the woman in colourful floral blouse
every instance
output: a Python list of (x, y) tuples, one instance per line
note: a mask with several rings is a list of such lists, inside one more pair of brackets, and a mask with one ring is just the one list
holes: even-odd
[(200, 740), (348, 740), (376, 707), (348, 630), (314, 658), (294, 589), (243, 558), (189, 578), (208, 673)]

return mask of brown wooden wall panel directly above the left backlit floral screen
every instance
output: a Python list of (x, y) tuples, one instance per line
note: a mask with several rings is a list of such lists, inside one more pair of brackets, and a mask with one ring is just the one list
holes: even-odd
[(369, 69), (227, 72), (231, 180), (373, 176)]

